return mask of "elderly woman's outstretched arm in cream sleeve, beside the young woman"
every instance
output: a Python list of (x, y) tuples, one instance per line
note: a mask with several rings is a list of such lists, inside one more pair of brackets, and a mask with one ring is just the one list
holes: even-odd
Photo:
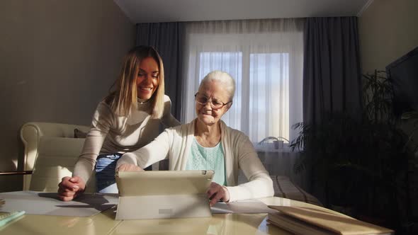
[(123, 164), (146, 168), (157, 161), (165, 159), (168, 156), (169, 148), (169, 132), (165, 130), (145, 147), (123, 154), (116, 164), (116, 169), (119, 169)]

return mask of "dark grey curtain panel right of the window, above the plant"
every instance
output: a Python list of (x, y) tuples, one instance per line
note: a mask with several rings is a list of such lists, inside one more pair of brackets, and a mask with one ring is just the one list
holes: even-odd
[(319, 123), (326, 113), (360, 118), (357, 18), (307, 18), (304, 53), (304, 122)]

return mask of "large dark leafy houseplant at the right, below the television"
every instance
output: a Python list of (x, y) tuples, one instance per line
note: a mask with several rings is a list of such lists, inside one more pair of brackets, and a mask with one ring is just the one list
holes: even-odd
[(406, 138), (392, 115), (385, 72), (363, 75), (362, 94), (361, 118), (327, 113), (320, 123), (294, 125), (300, 134), (290, 147), (301, 152), (294, 170), (310, 171), (311, 185), (322, 190), (328, 207), (339, 204), (358, 215), (383, 216), (380, 224), (397, 227), (388, 223), (402, 217), (394, 202), (405, 197)]

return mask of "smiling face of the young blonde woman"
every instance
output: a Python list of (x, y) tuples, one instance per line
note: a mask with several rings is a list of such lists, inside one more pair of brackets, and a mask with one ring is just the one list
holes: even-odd
[(157, 90), (159, 84), (158, 64), (152, 57), (141, 60), (137, 74), (137, 96), (143, 100), (149, 100)]

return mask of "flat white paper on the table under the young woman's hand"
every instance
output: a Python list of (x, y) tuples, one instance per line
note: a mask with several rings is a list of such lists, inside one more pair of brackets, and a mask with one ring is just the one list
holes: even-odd
[(26, 214), (47, 214), (73, 217), (89, 217), (118, 204), (117, 194), (84, 193), (69, 202), (61, 201), (57, 193), (17, 191), (0, 193), (4, 198), (1, 212), (24, 210)]

